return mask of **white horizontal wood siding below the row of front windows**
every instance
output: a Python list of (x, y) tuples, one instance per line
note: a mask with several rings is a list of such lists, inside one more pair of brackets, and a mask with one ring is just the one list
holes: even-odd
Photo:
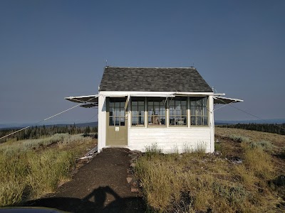
[(209, 128), (130, 128), (128, 147), (131, 150), (145, 151), (145, 147), (156, 144), (164, 153), (185, 151), (185, 146), (193, 149), (204, 146), (211, 152)]

